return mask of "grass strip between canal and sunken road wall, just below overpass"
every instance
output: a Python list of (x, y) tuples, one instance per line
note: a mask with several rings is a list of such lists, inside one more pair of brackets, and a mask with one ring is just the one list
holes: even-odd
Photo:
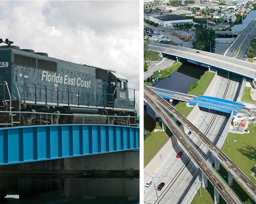
[(192, 91), (188, 91), (188, 94), (195, 96), (203, 95), (204, 91), (211, 83), (214, 74), (214, 72), (206, 71), (198, 80), (196, 88), (194, 88)]

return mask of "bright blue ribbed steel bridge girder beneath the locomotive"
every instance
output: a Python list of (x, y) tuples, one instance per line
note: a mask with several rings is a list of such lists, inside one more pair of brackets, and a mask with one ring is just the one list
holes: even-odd
[(0, 129), (0, 165), (139, 149), (139, 127), (76, 124)]

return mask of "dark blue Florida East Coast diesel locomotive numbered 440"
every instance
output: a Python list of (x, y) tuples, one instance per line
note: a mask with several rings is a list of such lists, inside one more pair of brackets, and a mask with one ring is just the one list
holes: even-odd
[(129, 99), (128, 81), (115, 70), (51, 58), (12, 46), (8, 39), (5, 43), (0, 46), (1, 127), (136, 124), (135, 97)]

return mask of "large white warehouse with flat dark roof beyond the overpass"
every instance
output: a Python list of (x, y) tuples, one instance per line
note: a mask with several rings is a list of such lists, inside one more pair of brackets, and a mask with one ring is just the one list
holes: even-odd
[(150, 19), (151, 21), (154, 21), (155, 23), (158, 23), (162, 26), (173, 26), (173, 25), (183, 25), (186, 23), (192, 24), (193, 19), (186, 18), (183, 16), (170, 14), (170, 15), (164, 15), (164, 16), (146, 16), (144, 14), (144, 18)]

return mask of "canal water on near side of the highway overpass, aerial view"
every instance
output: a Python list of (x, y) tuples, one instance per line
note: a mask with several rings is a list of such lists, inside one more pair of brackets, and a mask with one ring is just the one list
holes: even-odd
[[(206, 70), (208, 70), (208, 68), (191, 62), (186, 62), (183, 63), (180, 68), (173, 72), (169, 77), (157, 80), (153, 86), (188, 93), (189, 85), (198, 81)], [(173, 101), (173, 105), (176, 105), (177, 103), (178, 101)], [(158, 121), (158, 119), (156, 119), (155, 112), (150, 106), (148, 106), (148, 104), (146, 105), (146, 109), (148, 114), (146, 114), (144, 111), (144, 124), (146, 122), (147, 125), (144, 127), (151, 132), (155, 128), (155, 123)]]

